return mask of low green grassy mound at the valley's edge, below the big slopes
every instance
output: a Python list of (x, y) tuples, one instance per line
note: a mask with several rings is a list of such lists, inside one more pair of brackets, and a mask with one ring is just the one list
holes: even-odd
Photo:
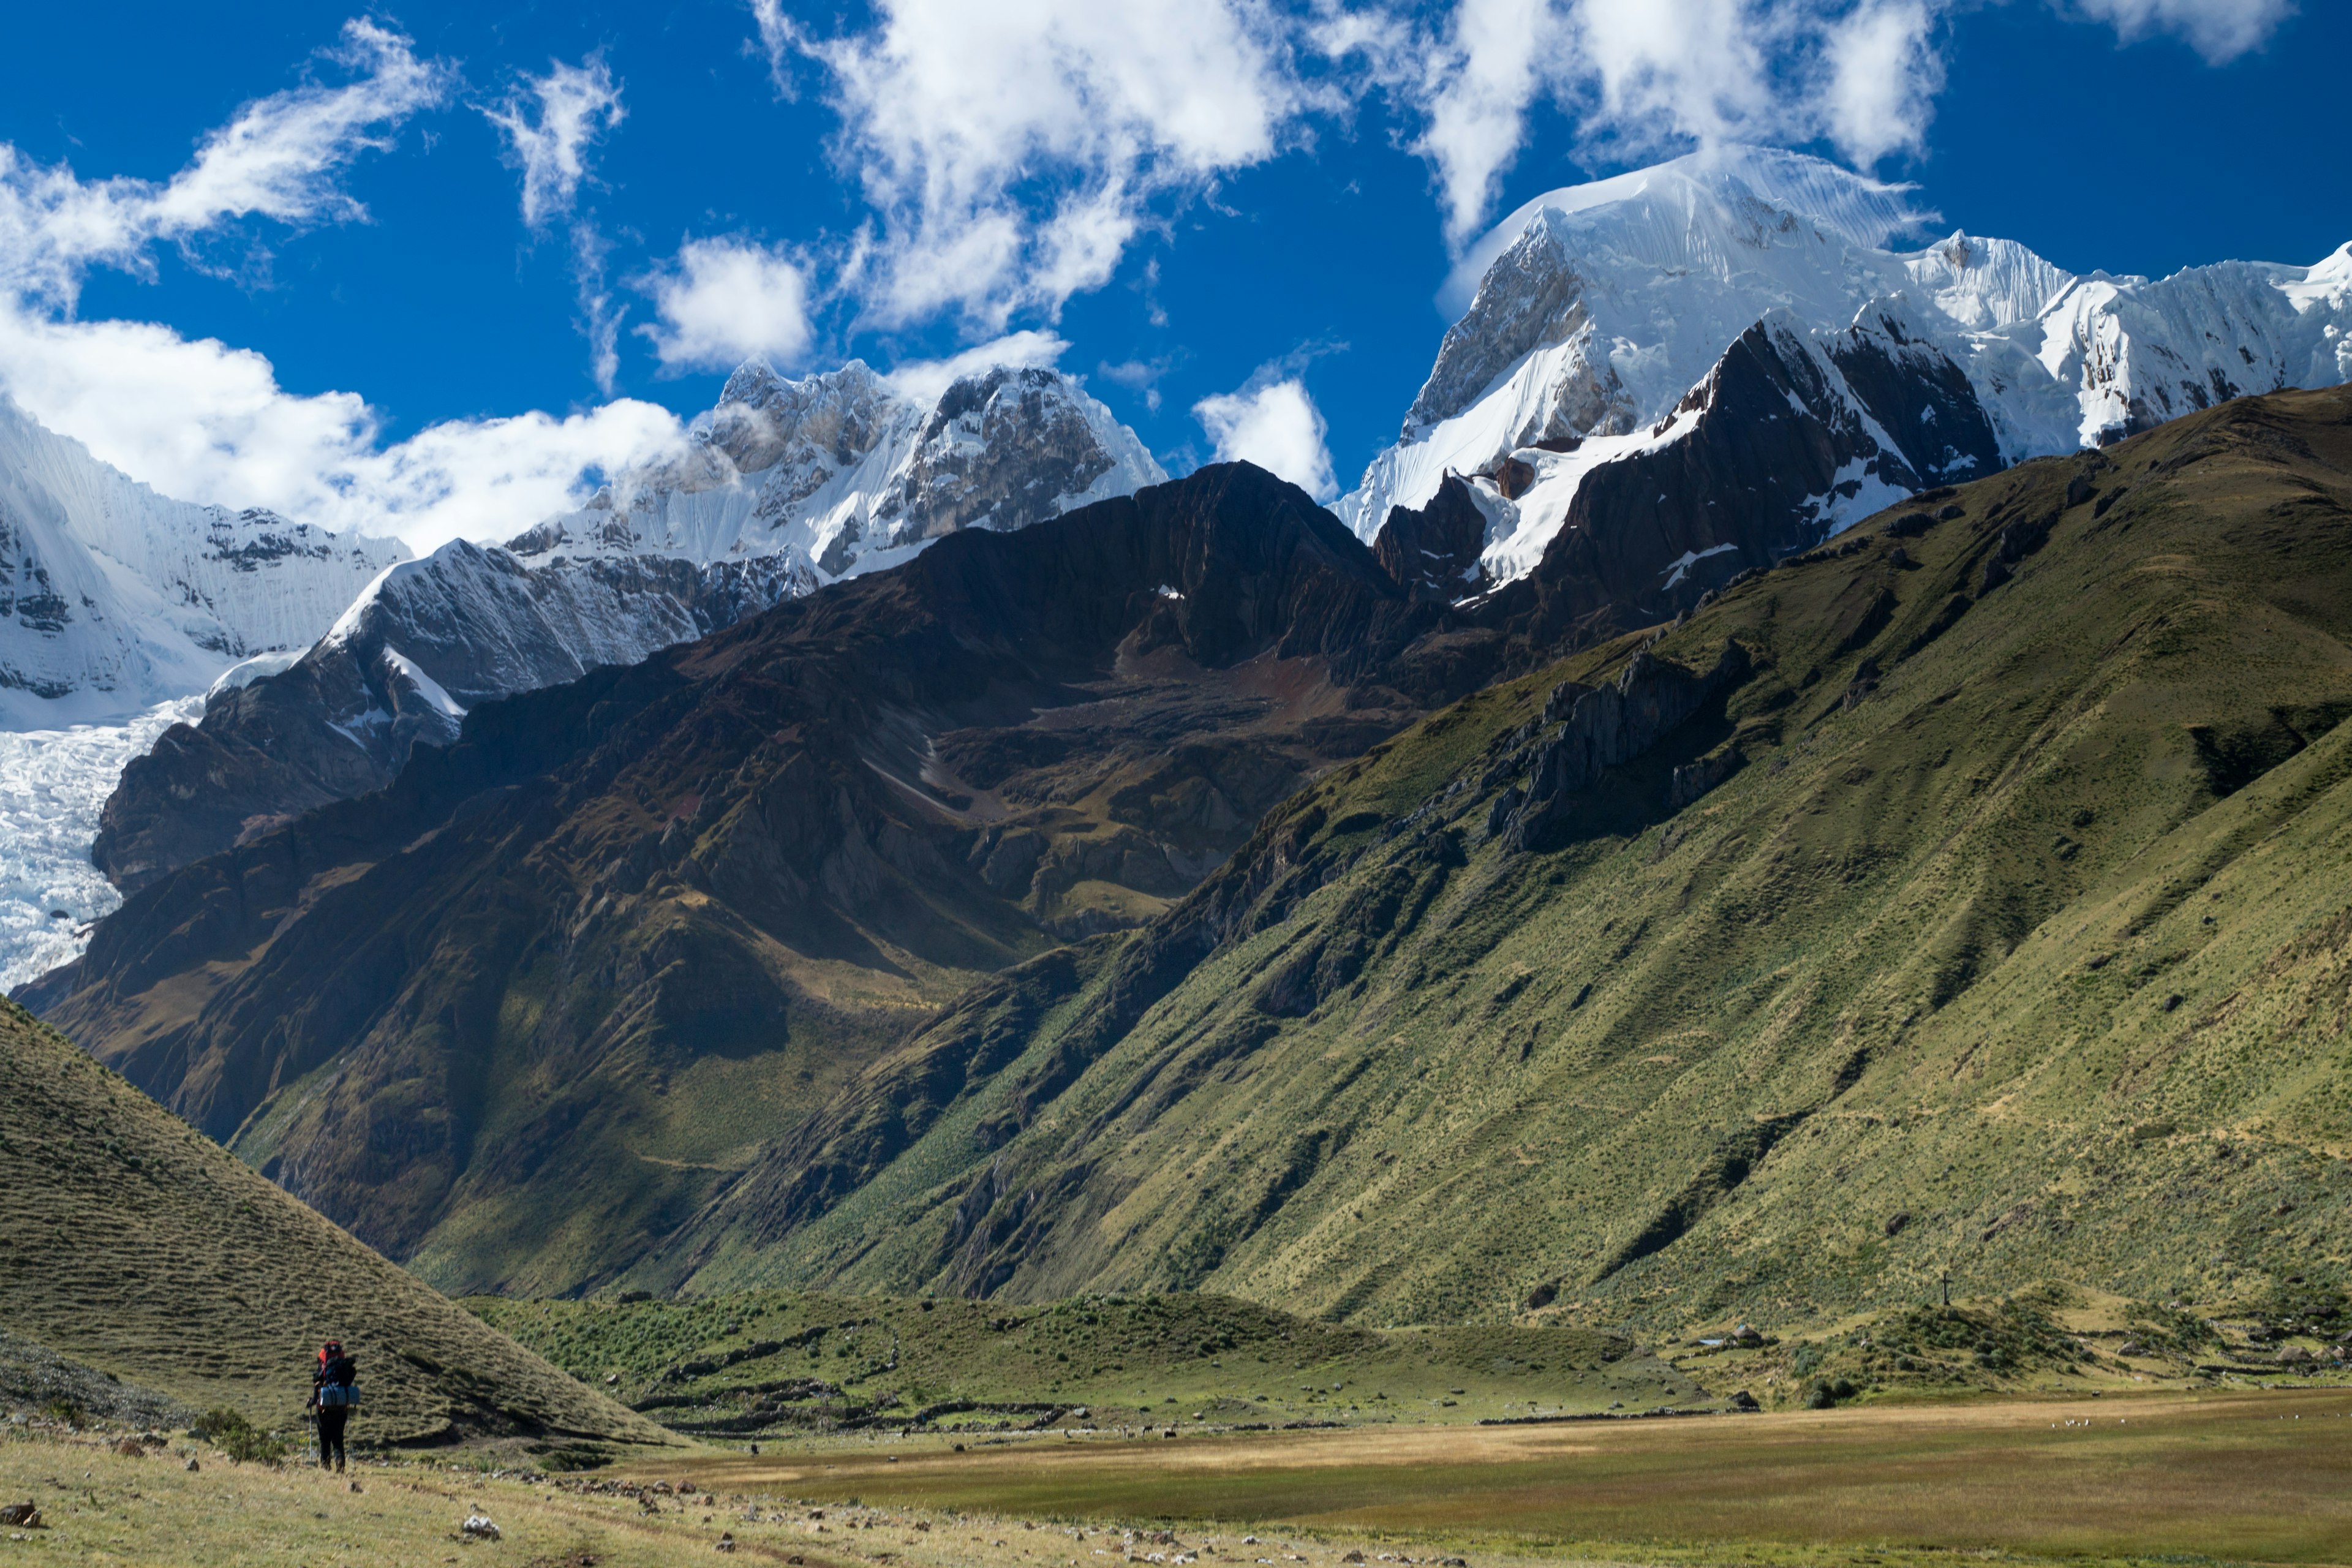
[(1374, 1333), (1221, 1295), (1014, 1309), (797, 1291), (466, 1305), (574, 1378), (612, 1380), (619, 1399), (703, 1436), (1470, 1422), (1708, 1401), (1611, 1333)]

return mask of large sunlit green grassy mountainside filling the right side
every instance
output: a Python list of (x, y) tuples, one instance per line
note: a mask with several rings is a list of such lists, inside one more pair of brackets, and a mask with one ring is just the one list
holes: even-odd
[[(950, 1009), (647, 1284), (1663, 1328), (2338, 1276), (2352, 395), (1926, 508), (1672, 668), (1592, 649), (1327, 776)], [(1545, 755), (1599, 733), (1562, 682), (1621, 677), (1599, 766)]]

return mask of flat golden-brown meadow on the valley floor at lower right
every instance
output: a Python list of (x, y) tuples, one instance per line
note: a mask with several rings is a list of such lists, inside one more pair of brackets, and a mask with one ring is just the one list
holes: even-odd
[(696, 1458), (708, 1486), (884, 1507), (1700, 1556), (1969, 1549), (2352, 1561), (2352, 1392), (1879, 1406), (969, 1453)]

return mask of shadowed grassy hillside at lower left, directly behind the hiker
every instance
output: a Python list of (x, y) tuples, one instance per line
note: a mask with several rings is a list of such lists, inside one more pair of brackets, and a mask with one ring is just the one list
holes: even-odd
[(5, 1001), (0, 1328), (282, 1429), (310, 1394), (310, 1352), (341, 1338), (360, 1359), (360, 1439), (666, 1441)]

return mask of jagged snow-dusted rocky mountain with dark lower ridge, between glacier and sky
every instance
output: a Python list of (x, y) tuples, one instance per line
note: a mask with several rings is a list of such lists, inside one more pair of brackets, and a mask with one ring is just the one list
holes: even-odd
[(630, 665), (957, 529), (1018, 529), (1164, 475), (1049, 369), (917, 397), (861, 362), (729, 376), (682, 456), (503, 548), (383, 574), (287, 670), (214, 693), (122, 771), (96, 865), (125, 891), (329, 799), (381, 790), (466, 710)]

